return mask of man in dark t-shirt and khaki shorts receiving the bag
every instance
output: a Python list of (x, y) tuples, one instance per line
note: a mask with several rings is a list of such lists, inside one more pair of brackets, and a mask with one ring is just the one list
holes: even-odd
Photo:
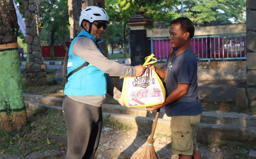
[(197, 60), (190, 45), (195, 28), (190, 19), (181, 17), (172, 21), (169, 32), (175, 51), (163, 68), (155, 68), (162, 79), (166, 77), (167, 97), (163, 104), (147, 110), (165, 106), (166, 115), (172, 117), (172, 155), (179, 159), (202, 159), (196, 143), (202, 105), (197, 91)]

